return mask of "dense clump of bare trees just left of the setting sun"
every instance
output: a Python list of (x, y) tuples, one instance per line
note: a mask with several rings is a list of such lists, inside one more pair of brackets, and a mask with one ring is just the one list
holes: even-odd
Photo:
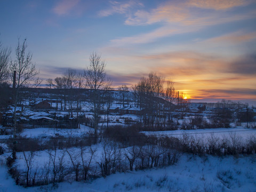
[[(140, 82), (133, 86), (134, 97), (140, 106), (141, 122), (145, 127), (163, 127), (171, 122), (171, 111), (174, 103), (177, 103), (178, 92), (174, 89), (174, 82), (167, 81), (164, 89), (164, 78), (156, 73), (150, 73), (147, 78), (141, 78)], [(188, 100), (179, 98), (179, 104), (184, 105)]]

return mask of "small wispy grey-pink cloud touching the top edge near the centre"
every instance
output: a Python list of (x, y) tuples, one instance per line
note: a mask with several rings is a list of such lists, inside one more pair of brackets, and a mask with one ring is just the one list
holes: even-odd
[(115, 13), (126, 14), (134, 7), (143, 6), (142, 3), (132, 0), (126, 2), (109, 1), (109, 4), (110, 6), (107, 9), (98, 12), (100, 17), (107, 17)]

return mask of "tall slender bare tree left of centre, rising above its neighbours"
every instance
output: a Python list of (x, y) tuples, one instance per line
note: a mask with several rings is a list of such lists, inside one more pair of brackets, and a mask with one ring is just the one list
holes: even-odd
[(91, 89), (91, 103), (93, 111), (93, 121), (94, 121), (94, 142), (97, 142), (98, 137), (98, 123), (99, 123), (99, 111), (102, 107), (101, 93), (106, 84), (106, 73), (105, 73), (106, 63), (101, 59), (98, 53), (91, 53), (90, 55), (90, 65), (84, 70), (84, 75), (86, 79), (86, 85)]

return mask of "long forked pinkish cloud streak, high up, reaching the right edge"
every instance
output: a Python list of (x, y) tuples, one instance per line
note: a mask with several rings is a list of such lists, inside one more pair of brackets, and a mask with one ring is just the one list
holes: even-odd
[[(190, 7), (185, 3), (173, 4), (169, 2), (161, 4), (156, 9), (151, 9), (149, 11), (138, 10), (134, 14), (129, 14), (129, 17), (125, 20), (126, 25), (140, 26), (161, 23), (160, 27), (147, 33), (112, 39), (110, 42), (114, 46), (146, 44), (155, 42), (163, 37), (199, 31), (207, 26), (251, 18), (256, 18), (256, 13), (254, 11), (232, 14), (218, 11), (209, 13), (196, 12), (195, 10), (190, 10)], [(239, 34), (234, 34), (233, 36), (235, 37), (238, 35)], [(248, 36), (242, 36), (242, 34), (240, 34), (239, 39), (242, 41), (243, 39), (253, 38), (254, 36), (254, 34), (247, 35)], [(236, 39), (236, 41), (239, 39)]]

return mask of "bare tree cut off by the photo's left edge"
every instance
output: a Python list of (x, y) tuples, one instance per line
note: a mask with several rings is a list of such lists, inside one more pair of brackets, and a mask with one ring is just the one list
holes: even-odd
[(0, 42), (0, 84), (5, 83), (9, 77), (8, 65), (11, 49), (4, 48)]

